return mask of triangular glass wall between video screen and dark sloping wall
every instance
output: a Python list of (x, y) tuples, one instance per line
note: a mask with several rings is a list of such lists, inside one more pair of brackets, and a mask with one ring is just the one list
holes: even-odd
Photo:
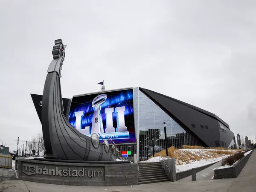
[[(139, 116), (138, 107), (140, 111)], [(144, 93), (138, 88), (134, 88), (134, 120), (136, 130), (138, 128), (138, 118), (140, 161), (147, 160), (165, 148), (163, 122), (166, 122), (168, 148), (171, 146), (182, 148), (182, 145), (201, 145)]]

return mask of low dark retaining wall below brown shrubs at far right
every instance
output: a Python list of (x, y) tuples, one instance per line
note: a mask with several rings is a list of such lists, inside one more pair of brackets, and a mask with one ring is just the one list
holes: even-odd
[[(252, 151), (253, 152), (253, 151)], [(250, 158), (252, 152), (243, 157), (239, 162), (236, 163), (233, 167), (228, 167), (224, 169), (215, 169), (214, 170), (214, 179), (227, 179), (227, 178), (236, 178), (244, 168), (248, 159)]]

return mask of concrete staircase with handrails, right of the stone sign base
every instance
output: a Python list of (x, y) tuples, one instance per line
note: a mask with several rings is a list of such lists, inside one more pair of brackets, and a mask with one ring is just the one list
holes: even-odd
[(138, 184), (157, 183), (169, 181), (166, 172), (160, 162), (139, 162), (139, 181)]

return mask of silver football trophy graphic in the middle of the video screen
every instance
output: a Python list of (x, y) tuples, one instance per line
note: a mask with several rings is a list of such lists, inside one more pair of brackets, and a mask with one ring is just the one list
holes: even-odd
[(98, 95), (93, 99), (92, 107), (94, 108), (94, 113), (93, 113), (93, 123), (92, 123), (91, 134), (104, 133), (103, 124), (102, 124), (102, 115), (101, 115), (101, 105), (103, 105), (106, 100), (107, 100), (106, 94)]

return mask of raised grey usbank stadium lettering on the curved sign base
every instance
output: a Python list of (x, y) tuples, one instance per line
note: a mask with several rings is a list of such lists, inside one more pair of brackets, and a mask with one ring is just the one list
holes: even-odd
[(22, 172), (26, 175), (54, 175), (54, 176), (64, 176), (64, 177), (103, 177), (104, 173), (102, 170), (87, 170), (89, 167), (84, 167), (80, 169), (61, 169), (60, 167), (56, 166), (52, 169), (41, 168), (36, 165), (30, 164), (23, 164), (22, 165)]

